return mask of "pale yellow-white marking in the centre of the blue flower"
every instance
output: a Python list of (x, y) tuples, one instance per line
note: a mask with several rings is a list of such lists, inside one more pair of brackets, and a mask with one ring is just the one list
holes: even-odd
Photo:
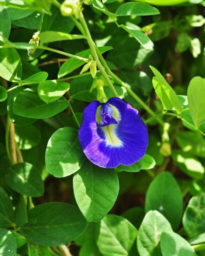
[(123, 142), (117, 138), (115, 134), (116, 128), (117, 124), (101, 127), (105, 134), (105, 141), (107, 146), (120, 147), (123, 145)]

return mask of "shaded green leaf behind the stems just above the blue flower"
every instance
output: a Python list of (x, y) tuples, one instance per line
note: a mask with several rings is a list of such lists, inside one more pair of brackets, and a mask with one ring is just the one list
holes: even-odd
[[(82, 76), (73, 79), (71, 82), (71, 89), (69, 90), (70, 96), (73, 99), (78, 99), (81, 101), (95, 101), (97, 98), (97, 89), (94, 88), (91, 93), (89, 93), (92, 83), (93, 78), (91, 76)], [(126, 95), (126, 90), (119, 85), (114, 85), (114, 87), (119, 95), (119, 98), (123, 99)], [(113, 94), (108, 86), (104, 87), (104, 92), (108, 99), (113, 97)]]

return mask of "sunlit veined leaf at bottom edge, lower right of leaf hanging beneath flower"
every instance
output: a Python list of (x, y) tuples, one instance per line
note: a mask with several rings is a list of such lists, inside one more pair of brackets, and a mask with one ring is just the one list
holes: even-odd
[(137, 229), (125, 218), (107, 215), (97, 223), (97, 246), (103, 256), (128, 255)]

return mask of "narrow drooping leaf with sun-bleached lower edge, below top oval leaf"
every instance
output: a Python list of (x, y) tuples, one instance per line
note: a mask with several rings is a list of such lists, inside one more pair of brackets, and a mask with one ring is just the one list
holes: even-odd
[[(127, 3), (129, 4), (129, 3)], [(133, 36), (141, 45), (143, 48), (145, 48), (147, 51), (153, 50), (154, 44), (149, 39), (148, 36), (146, 36), (142, 31), (136, 30), (133, 28), (126, 27), (125, 25), (119, 25), (120, 28), (123, 28), (126, 30), (131, 36)]]

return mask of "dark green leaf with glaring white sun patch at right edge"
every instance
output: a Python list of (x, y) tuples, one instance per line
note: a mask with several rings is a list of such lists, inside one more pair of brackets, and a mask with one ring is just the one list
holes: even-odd
[(172, 150), (171, 156), (176, 165), (188, 176), (196, 179), (203, 178), (204, 167), (194, 155), (181, 150)]

